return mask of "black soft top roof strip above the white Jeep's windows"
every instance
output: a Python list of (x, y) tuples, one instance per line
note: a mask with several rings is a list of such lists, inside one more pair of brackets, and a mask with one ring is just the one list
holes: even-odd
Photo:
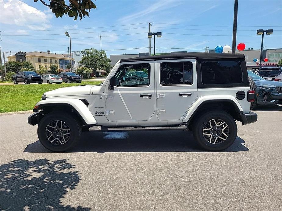
[(216, 53), (179, 53), (179, 54), (161, 54), (155, 56), (134, 57), (121, 59), (120, 62), (162, 60), (162, 59), (245, 59), (244, 54), (216, 54)]

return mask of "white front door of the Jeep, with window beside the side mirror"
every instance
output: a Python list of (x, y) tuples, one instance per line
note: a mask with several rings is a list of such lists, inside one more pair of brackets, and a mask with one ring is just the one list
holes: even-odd
[(154, 62), (121, 63), (116, 86), (106, 88), (109, 121), (146, 121), (155, 112)]

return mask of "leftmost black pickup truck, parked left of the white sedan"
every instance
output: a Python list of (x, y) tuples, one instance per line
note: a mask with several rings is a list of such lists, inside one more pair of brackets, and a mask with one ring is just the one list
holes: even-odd
[(18, 84), (18, 82), (42, 84), (43, 82), (41, 76), (34, 71), (19, 71), (18, 74), (12, 75), (12, 80), (14, 84)]

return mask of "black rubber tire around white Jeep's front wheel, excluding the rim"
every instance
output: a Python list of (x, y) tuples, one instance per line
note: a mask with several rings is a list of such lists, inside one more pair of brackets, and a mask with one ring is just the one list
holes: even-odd
[[(46, 136), (46, 127), (52, 121), (60, 120), (65, 122), (70, 128), (70, 137), (66, 143), (61, 145), (52, 144), (47, 136)], [(74, 147), (77, 142), (80, 140), (81, 135), (81, 126), (78, 123), (77, 119), (73, 118), (66, 112), (51, 112), (46, 114), (38, 124), (37, 127), (37, 136), (41, 144), (47, 148), (48, 150), (55, 151), (55, 152), (63, 152), (70, 150)]]

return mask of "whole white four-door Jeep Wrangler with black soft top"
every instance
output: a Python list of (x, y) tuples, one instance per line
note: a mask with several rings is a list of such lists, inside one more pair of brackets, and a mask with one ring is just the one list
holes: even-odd
[[(132, 72), (132, 73), (128, 73)], [(28, 117), (41, 144), (66, 151), (82, 131), (193, 130), (205, 150), (229, 147), (235, 120), (253, 123), (244, 54), (182, 53), (122, 59), (100, 85), (42, 95)]]

